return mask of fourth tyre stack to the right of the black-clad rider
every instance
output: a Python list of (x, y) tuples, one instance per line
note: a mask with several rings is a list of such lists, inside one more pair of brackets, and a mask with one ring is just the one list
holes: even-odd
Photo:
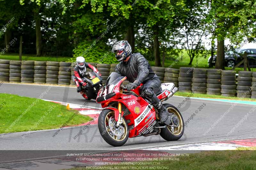
[(192, 91), (206, 94), (207, 69), (194, 69), (192, 79)]

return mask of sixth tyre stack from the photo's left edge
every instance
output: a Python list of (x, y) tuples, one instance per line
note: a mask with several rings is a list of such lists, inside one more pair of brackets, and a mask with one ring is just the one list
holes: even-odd
[(71, 63), (60, 62), (58, 85), (70, 85)]

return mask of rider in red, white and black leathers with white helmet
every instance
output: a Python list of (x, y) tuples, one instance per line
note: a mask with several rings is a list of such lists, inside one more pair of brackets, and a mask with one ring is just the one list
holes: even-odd
[(89, 63), (85, 63), (84, 57), (82, 57), (82, 56), (76, 57), (76, 66), (74, 68), (74, 73), (75, 73), (75, 82), (76, 82), (76, 86), (77, 86), (77, 92), (80, 92), (85, 99), (88, 99), (86, 94), (84, 92), (82, 92), (82, 86), (87, 85), (82, 80), (82, 78), (85, 76), (86, 68), (91, 69), (92, 71), (97, 73), (99, 76), (101, 76), (101, 74), (95, 67), (93, 67)]

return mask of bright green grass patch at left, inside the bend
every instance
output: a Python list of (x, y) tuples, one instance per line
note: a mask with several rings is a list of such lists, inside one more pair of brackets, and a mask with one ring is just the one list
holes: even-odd
[[(0, 93), (0, 134), (60, 128), (76, 112), (76, 110), (67, 110), (66, 106), (58, 103), (44, 100), (36, 102), (36, 100)], [(33, 102), (36, 104), (32, 104)], [(19, 119), (22, 114), (23, 116)], [(9, 129), (15, 120), (18, 121)], [(77, 114), (67, 126), (82, 124), (90, 120), (89, 116)], [(5, 131), (6, 129), (8, 130)]]

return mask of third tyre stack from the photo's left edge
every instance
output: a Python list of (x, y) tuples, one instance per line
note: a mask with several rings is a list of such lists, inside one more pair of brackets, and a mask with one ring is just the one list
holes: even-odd
[(34, 66), (35, 61), (21, 62), (21, 83), (34, 83)]

